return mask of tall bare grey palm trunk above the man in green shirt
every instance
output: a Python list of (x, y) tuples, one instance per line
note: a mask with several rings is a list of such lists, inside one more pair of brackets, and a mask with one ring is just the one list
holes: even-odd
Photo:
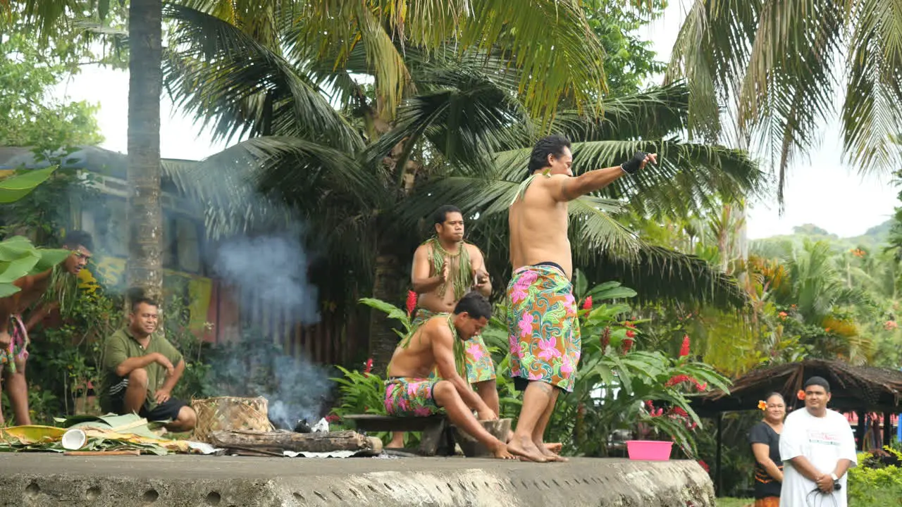
[(162, 2), (129, 5), (128, 63), (128, 272), (130, 287), (162, 293), (160, 207), (160, 94), (162, 88)]

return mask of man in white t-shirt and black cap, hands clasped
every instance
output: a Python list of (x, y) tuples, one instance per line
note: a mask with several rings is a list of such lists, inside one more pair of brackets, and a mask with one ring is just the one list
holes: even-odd
[(846, 471), (858, 463), (855, 437), (842, 414), (827, 410), (830, 384), (805, 382), (805, 410), (787, 416), (780, 434), (780, 507), (846, 507)]

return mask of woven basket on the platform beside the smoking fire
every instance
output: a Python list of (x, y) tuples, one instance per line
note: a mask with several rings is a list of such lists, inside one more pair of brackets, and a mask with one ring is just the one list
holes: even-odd
[(194, 428), (194, 439), (207, 442), (213, 431), (250, 429), (272, 431), (268, 416), (268, 402), (262, 396), (257, 398), (235, 398), (220, 396), (191, 400), (191, 408), (198, 413), (198, 424)]

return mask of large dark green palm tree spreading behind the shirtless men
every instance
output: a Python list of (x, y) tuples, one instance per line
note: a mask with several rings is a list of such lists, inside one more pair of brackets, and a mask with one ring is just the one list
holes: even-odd
[[(390, 122), (381, 121), (373, 115), (382, 100), (378, 90), (353, 79), (378, 78), (360, 45), (336, 68), (334, 58), (324, 62), (290, 45), (272, 51), (211, 14), (174, 5), (166, 14), (176, 34), (164, 64), (167, 89), (218, 134), (252, 136), (197, 173), (176, 175), (204, 179), (207, 194), (219, 190), (198, 196), (213, 204), (207, 225), (214, 234), (283, 223), (289, 212), (277, 205), (287, 205), (304, 218), (308, 240), (328, 252), (328, 267), (317, 271), (334, 275), (330, 283), (359, 286), (363, 279), (364, 286), (372, 283), (374, 297), (397, 301), (408, 278), (401, 259), (420, 239), (419, 218), (454, 202), (474, 220), (492, 272), (503, 276), (502, 211), (522, 179), (529, 146), (550, 128), (580, 142), (576, 171), (610, 166), (638, 149), (663, 155), (654, 170), (575, 203), (577, 262), (588, 264), (593, 276), (601, 270), (623, 276), (649, 298), (741, 305), (741, 291), (722, 273), (642, 244), (608, 214), (624, 198), (642, 212), (673, 213), (704, 207), (715, 193), (739, 195), (755, 187), (759, 172), (743, 153), (676, 138), (686, 125), (685, 87), (608, 100), (603, 115), (557, 110), (542, 127), (544, 113), (531, 114), (520, 72), (501, 55), (452, 46), (427, 51), (409, 41), (395, 51), (402, 51), (416, 92), (400, 102)], [(662, 280), (650, 282), (650, 273)], [(372, 328), (377, 364), (387, 362), (396, 340), (391, 329)]]

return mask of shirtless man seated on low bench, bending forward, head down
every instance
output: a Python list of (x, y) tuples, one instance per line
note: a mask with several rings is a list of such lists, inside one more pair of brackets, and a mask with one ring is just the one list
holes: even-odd
[[(473, 417), (476, 410), (479, 419), (498, 419), (464, 378), (464, 342), (479, 333), (491, 317), (489, 301), (470, 292), (457, 302), (453, 314), (429, 318), (401, 340), (389, 363), (385, 410), (389, 415), (419, 417), (445, 410), (451, 422), (494, 457), (514, 459), (504, 442)], [(436, 368), (439, 376), (430, 378)]]

